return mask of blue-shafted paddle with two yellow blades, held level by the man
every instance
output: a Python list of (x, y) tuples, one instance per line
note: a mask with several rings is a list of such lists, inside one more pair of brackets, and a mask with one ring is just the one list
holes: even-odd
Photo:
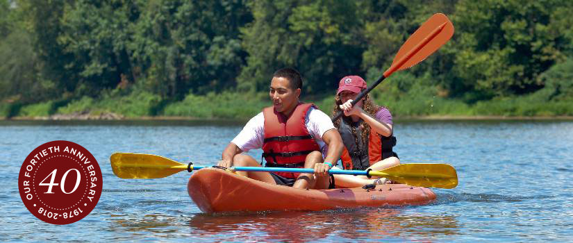
[[(163, 178), (179, 171), (203, 169), (210, 166), (181, 164), (174, 160), (143, 153), (113, 153), (110, 156), (113, 173), (119, 178)], [(314, 173), (313, 169), (276, 167), (231, 167), (231, 171), (267, 171)], [(331, 169), (330, 174), (381, 176), (393, 181), (420, 187), (454, 188), (458, 185), (456, 169), (446, 164), (402, 164), (381, 171)]]

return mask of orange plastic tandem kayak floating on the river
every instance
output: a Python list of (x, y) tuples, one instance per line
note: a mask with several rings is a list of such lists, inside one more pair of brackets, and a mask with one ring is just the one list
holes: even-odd
[(435, 194), (428, 188), (404, 184), (377, 185), (370, 190), (360, 187), (304, 190), (272, 185), (215, 168), (194, 171), (187, 191), (206, 213), (407, 206), (435, 200)]

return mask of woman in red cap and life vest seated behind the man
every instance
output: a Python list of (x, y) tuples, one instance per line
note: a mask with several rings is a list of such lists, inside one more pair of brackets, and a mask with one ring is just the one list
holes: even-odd
[[(366, 88), (366, 82), (360, 76), (346, 76), (340, 80), (333, 115), (342, 111), (344, 116), (334, 121), (334, 126), (338, 128), (345, 147), (341, 156), (342, 167), (379, 171), (399, 165), (400, 160), (392, 151), (396, 138), (392, 136), (390, 110), (374, 105), (368, 94), (354, 107), (351, 106), (352, 99)], [(334, 178), (338, 187), (390, 183), (385, 178), (373, 181), (366, 176), (335, 175)]]

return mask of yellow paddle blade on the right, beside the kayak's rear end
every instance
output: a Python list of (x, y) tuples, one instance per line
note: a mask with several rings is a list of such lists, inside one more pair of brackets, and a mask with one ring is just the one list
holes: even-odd
[(369, 174), (417, 187), (451, 189), (458, 185), (456, 169), (447, 164), (401, 164)]

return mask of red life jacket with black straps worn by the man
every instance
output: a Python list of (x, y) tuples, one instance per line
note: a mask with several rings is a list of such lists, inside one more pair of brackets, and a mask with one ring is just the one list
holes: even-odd
[[(308, 133), (305, 118), (312, 103), (299, 103), (290, 117), (276, 112), (272, 106), (263, 109), (265, 117), (265, 141), (263, 157), (266, 167), (302, 168), (306, 155), (320, 151), (314, 138)], [(297, 178), (299, 173), (276, 173), (285, 178)]]

